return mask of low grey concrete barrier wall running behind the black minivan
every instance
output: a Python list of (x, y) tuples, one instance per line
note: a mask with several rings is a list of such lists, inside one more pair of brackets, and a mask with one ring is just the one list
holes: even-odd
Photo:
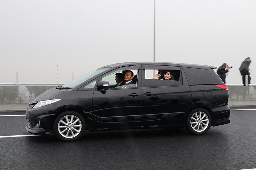
[[(57, 85), (0, 85), (0, 111), (24, 111), (44, 91)], [(256, 86), (228, 86), (228, 105), (256, 106)]]

